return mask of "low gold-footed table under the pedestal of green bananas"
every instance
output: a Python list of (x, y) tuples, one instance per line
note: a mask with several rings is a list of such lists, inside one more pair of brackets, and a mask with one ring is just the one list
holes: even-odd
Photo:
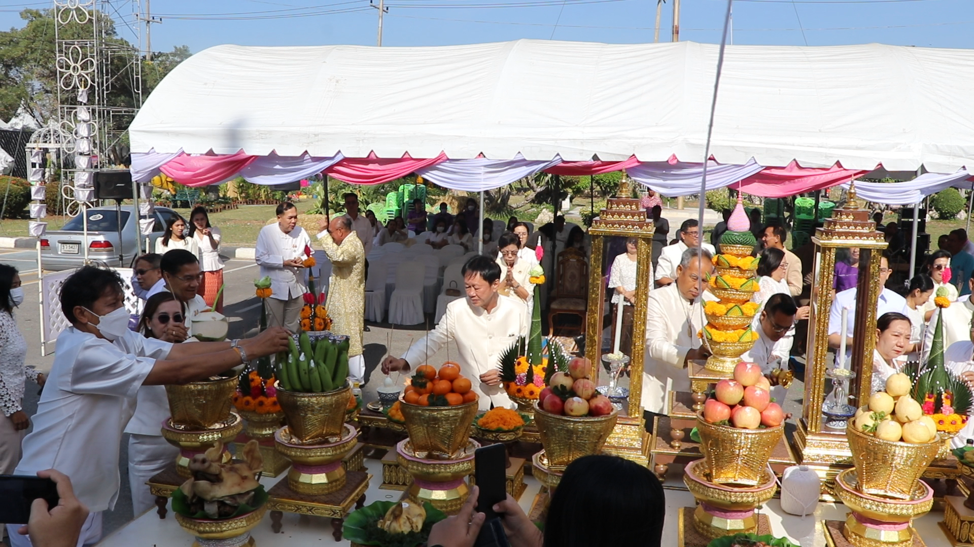
[(361, 509), (365, 505), (365, 491), (372, 475), (362, 471), (349, 471), (342, 488), (330, 493), (311, 495), (294, 492), (288, 480), (281, 480), (268, 493), (267, 508), (271, 511), (271, 529), (281, 532), (281, 518), (284, 513), (296, 513), (313, 517), (331, 519), (332, 536), (335, 541), (342, 540), (342, 525), (352, 508)]

